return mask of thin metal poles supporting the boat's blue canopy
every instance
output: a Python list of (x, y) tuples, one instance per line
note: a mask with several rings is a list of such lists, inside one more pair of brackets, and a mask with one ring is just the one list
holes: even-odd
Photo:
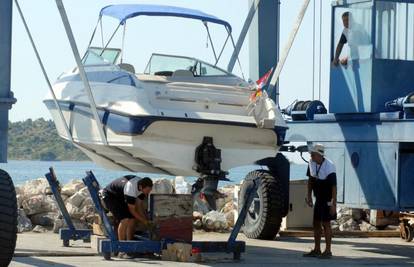
[[(105, 9), (105, 8), (104, 8)], [(103, 9), (102, 9), (103, 10)], [(141, 16), (141, 15), (146, 15), (146, 14), (138, 14), (138, 15), (135, 15), (135, 16), (133, 16), (133, 17), (129, 17), (129, 18), (127, 18), (127, 19), (132, 19), (132, 18), (135, 18), (135, 17), (138, 17), (138, 16)], [(151, 16), (155, 16), (155, 17), (165, 17), (165, 16), (168, 16), (168, 15), (157, 15), (157, 14), (152, 14)], [(102, 47), (103, 47), (103, 49), (102, 49), (102, 52), (101, 52), (101, 54), (100, 54), (100, 56), (102, 56), (102, 54), (103, 53), (105, 53), (105, 51), (107, 50), (107, 49), (110, 49), (109, 48), (109, 45), (111, 44), (111, 41), (114, 39), (114, 37), (115, 37), (115, 35), (118, 33), (118, 31), (121, 29), (121, 27), (123, 28), (122, 29), (122, 45), (121, 45), (121, 53), (120, 53), (120, 63), (123, 63), (123, 55), (124, 55), (124, 47), (125, 47), (125, 34), (126, 34), (126, 25), (127, 25), (127, 19), (125, 19), (125, 20), (120, 20), (120, 22), (119, 22), (119, 24), (117, 25), (117, 27), (116, 27), (116, 29), (114, 30), (114, 32), (111, 34), (111, 36), (109, 37), (109, 39), (108, 39), (108, 41), (105, 43), (104, 42), (104, 38), (103, 38), (103, 26), (102, 26), (102, 19), (103, 19), (103, 15), (102, 15), (102, 11), (101, 11), (101, 13), (100, 13), (100, 15), (99, 15), (99, 18), (98, 18), (98, 22), (97, 22), (97, 24), (96, 24), (96, 26), (95, 26), (95, 29), (94, 29), (94, 31), (93, 31), (93, 33), (92, 33), (92, 36), (91, 36), (91, 39), (90, 39), (90, 41), (89, 41), (89, 44), (88, 44), (88, 49), (89, 48), (91, 48), (92, 46), (91, 46), (91, 44), (92, 44), (92, 42), (93, 42), (93, 40), (94, 40), (94, 38), (95, 38), (95, 35), (96, 35), (96, 33), (97, 33), (97, 31), (98, 31), (98, 27), (100, 28), (100, 34), (101, 34), (101, 38), (102, 38)], [(176, 17), (179, 17), (179, 16), (176, 16)], [(210, 46), (211, 46), (211, 50), (212, 50), (212, 52), (213, 52), (213, 55), (214, 55), (214, 59), (215, 59), (215, 63), (214, 64), (209, 64), (209, 63), (206, 63), (206, 62), (203, 62), (203, 61), (201, 61), (201, 60), (198, 60), (198, 59), (196, 59), (197, 61), (199, 61), (199, 62), (201, 62), (201, 63), (203, 63), (203, 64), (206, 64), (206, 65), (208, 65), (208, 66), (211, 66), (211, 67), (214, 67), (215, 69), (218, 69), (218, 70), (220, 70), (220, 71), (223, 71), (223, 72), (225, 72), (225, 73), (227, 73), (227, 74), (231, 74), (231, 73), (229, 73), (229, 72), (227, 72), (227, 71), (224, 71), (224, 70), (222, 70), (222, 69), (220, 69), (219, 67), (217, 67), (217, 65), (218, 65), (218, 63), (219, 63), (219, 61), (220, 61), (220, 59), (221, 59), (221, 57), (222, 57), (222, 55), (223, 55), (223, 52), (224, 52), (224, 49), (226, 48), (226, 46), (227, 46), (227, 44), (229, 43), (229, 41), (230, 41), (230, 43), (232, 44), (232, 46), (233, 46), (233, 49), (236, 49), (236, 44), (235, 44), (235, 41), (234, 41), (234, 38), (233, 38), (233, 35), (232, 35), (232, 29), (231, 29), (231, 26), (230, 26), (230, 24), (228, 24), (228, 23), (218, 23), (218, 24), (220, 24), (220, 25), (223, 25), (223, 27), (226, 29), (226, 31), (227, 31), (227, 38), (226, 38), (226, 40), (225, 40), (225, 42), (224, 42), (224, 44), (223, 44), (223, 46), (221, 47), (221, 49), (220, 50), (216, 50), (216, 48), (215, 48), (215, 46), (214, 46), (214, 42), (213, 42), (213, 39), (212, 39), (212, 37), (211, 37), (211, 33), (210, 33), (210, 28), (209, 28), (209, 25), (208, 25), (208, 23), (215, 23), (215, 22), (212, 22), (212, 21), (205, 21), (205, 20), (202, 20), (201, 18), (193, 18), (193, 17), (185, 17), (185, 16), (182, 16), (182, 18), (186, 18), (186, 19), (193, 19), (193, 20), (199, 20), (199, 21), (202, 21), (202, 23), (203, 23), (203, 25), (204, 25), (204, 27), (205, 27), (205, 29), (206, 29), (206, 32), (207, 32), (207, 37), (208, 37), (208, 41), (209, 41), (209, 43), (210, 43)], [(243, 71), (242, 71), (242, 73), (243, 73)], [(233, 75), (233, 74), (231, 74), (231, 75)], [(234, 75), (233, 75), (234, 76)], [(243, 75), (244, 76), (244, 75)], [(243, 77), (244, 78), (244, 77)]]

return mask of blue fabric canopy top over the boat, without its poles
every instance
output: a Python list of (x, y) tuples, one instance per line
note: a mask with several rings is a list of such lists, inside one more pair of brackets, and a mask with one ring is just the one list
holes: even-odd
[(109, 16), (118, 19), (120, 24), (137, 16), (166, 16), (166, 17), (181, 17), (189, 19), (197, 19), (203, 22), (211, 22), (215, 24), (221, 24), (225, 26), (230, 32), (232, 30), (230, 23), (225, 20), (219, 19), (213, 15), (201, 12), (195, 9), (174, 7), (174, 6), (161, 6), (161, 5), (143, 5), (143, 4), (131, 4), (131, 5), (110, 5), (104, 7), (99, 14), (102, 16)]

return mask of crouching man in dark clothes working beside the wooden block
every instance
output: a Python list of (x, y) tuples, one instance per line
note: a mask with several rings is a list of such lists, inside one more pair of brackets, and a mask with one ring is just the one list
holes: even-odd
[(146, 207), (152, 185), (148, 177), (127, 175), (112, 181), (103, 190), (104, 204), (116, 221), (118, 240), (132, 240), (137, 223), (144, 227), (151, 225)]

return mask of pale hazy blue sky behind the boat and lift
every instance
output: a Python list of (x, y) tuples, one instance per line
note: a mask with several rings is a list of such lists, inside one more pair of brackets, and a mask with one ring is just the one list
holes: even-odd
[[(302, 0), (281, 0), (281, 47), (284, 46), (291, 32), (302, 2)], [(321, 2), (323, 2), (322, 13), (319, 12)], [(32, 31), (49, 78), (53, 82), (62, 72), (75, 66), (55, 1), (20, 0), (19, 3)], [(64, 1), (81, 54), (85, 52), (88, 45), (100, 9), (113, 3), (153, 3), (199, 9), (230, 22), (236, 39), (243, 27), (249, 9), (248, 0)], [(317, 25), (315, 68), (313, 68), (312, 53), (314, 7)], [(319, 32), (320, 19), (322, 20), (322, 32)], [(318, 98), (319, 36), (322, 36), (321, 99), (325, 105), (328, 104), (330, 20), (330, 1), (312, 0), (281, 74), (281, 107), (289, 105), (296, 99), (312, 99), (313, 84), (316, 88), (316, 98)], [(105, 38), (108, 38), (115, 26), (115, 21), (110, 18), (104, 21)], [(207, 62), (213, 62), (213, 54), (211, 47), (206, 45), (207, 35), (203, 27), (198, 21), (178, 18), (142, 17), (130, 20), (126, 30), (125, 62), (133, 62), (137, 72), (144, 70), (153, 52), (193, 56)], [(219, 26), (212, 26), (211, 31), (212, 38), (219, 47), (219, 44), (225, 40), (226, 32)], [(100, 40), (99, 35), (96, 41), (98, 39)], [(119, 45), (120, 41), (121, 35), (117, 35), (113, 45)], [(95, 42), (95, 44), (99, 45), (100, 42)], [(50, 115), (42, 102), (48, 91), (47, 84), (17, 12), (13, 14), (12, 49), (12, 91), (17, 98), (17, 103), (10, 112), (10, 120), (21, 121), (40, 117), (49, 119)], [(247, 75), (249, 73), (248, 49), (248, 42), (246, 41), (240, 60), (243, 71)], [(232, 49), (228, 46), (228, 49), (223, 53), (223, 59), (219, 66), (224, 68), (227, 66), (231, 53)], [(235, 68), (235, 73), (240, 75), (240, 69)]]

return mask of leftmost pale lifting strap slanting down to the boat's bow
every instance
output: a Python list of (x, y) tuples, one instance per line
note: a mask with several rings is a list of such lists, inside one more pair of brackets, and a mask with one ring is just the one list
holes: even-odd
[(65, 131), (66, 131), (66, 134), (67, 134), (69, 140), (73, 143), (72, 133), (69, 130), (69, 127), (68, 127), (68, 125), (66, 123), (65, 117), (63, 116), (62, 109), (60, 108), (59, 102), (57, 101), (55, 92), (53, 91), (52, 84), (50, 83), (50, 79), (49, 79), (49, 77), (48, 77), (48, 75), (46, 73), (45, 66), (43, 65), (42, 59), (40, 58), (40, 54), (39, 54), (39, 51), (37, 50), (37, 47), (36, 47), (36, 44), (35, 44), (35, 42), (33, 40), (32, 34), (30, 33), (29, 26), (27, 26), (26, 19), (25, 19), (24, 15), (23, 15), (23, 12), (22, 12), (21, 8), (20, 8), (19, 2), (17, 0), (14, 0), (14, 3), (16, 4), (17, 11), (19, 12), (20, 18), (22, 19), (22, 22), (23, 22), (24, 28), (26, 30), (27, 36), (29, 37), (29, 40), (30, 40), (30, 43), (31, 43), (32, 48), (34, 50), (34, 53), (36, 55), (37, 61), (38, 61), (39, 65), (40, 65), (40, 68), (42, 70), (43, 77), (45, 78), (45, 81), (47, 83), (47, 86), (49, 87), (50, 94), (53, 97), (53, 102), (55, 103), (55, 106), (58, 109), (59, 117), (60, 117), (60, 119), (63, 122), (63, 125), (65, 127)]

